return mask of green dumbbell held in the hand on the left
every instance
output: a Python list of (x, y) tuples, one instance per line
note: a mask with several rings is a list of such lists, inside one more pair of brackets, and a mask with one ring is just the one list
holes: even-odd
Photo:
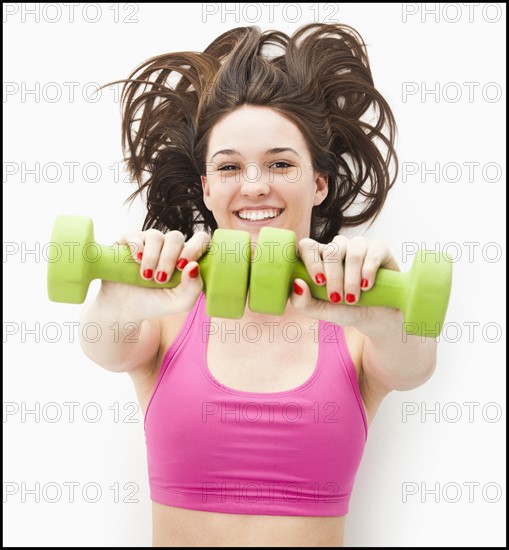
[[(99, 245), (90, 218), (58, 216), (51, 234), (55, 257), (48, 260), (48, 296), (53, 302), (81, 304), (94, 279), (146, 288), (173, 288), (181, 272), (159, 284), (140, 275), (140, 266), (127, 245)], [(239, 261), (221, 261), (234, 251)], [(238, 252), (237, 252), (238, 251)], [(247, 231), (217, 229), (208, 251), (198, 260), (211, 317), (240, 319), (249, 283), (250, 239)]]

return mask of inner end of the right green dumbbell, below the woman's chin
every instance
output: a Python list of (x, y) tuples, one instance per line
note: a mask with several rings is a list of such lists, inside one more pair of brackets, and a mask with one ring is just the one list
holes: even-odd
[(288, 229), (260, 229), (251, 263), (251, 311), (269, 315), (284, 314), (297, 262), (296, 239), (296, 234)]

